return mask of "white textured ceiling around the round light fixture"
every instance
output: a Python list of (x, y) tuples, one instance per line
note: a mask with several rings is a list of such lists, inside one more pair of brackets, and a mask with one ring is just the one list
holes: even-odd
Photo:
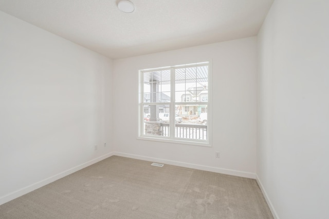
[(257, 35), (273, 0), (0, 0), (0, 10), (112, 59)]

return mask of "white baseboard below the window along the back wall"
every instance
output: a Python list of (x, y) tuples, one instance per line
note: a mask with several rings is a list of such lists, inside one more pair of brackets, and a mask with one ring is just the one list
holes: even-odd
[(152, 162), (160, 162), (160, 163), (167, 164), (167, 165), (175, 165), (175, 166), (179, 166), (179, 167), (186, 167), (186, 168), (210, 171), (210, 172), (215, 172), (215, 173), (223, 173), (223, 174), (228, 174), (228, 175), (233, 175), (233, 176), (241, 176), (241, 177), (252, 178), (252, 179), (256, 178), (256, 175), (254, 173), (243, 172), (243, 171), (215, 168), (215, 167), (209, 167), (209, 166), (203, 166), (203, 165), (196, 165), (193, 163), (160, 159), (160, 158), (155, 158), (155, 157), (145, 157), (145, 156), (126, 154), (126, 153), (121, 153), (121, 152), (113, 152), (113, 155), (134, 158), (134, 159), (139, 159), (139, 160), (152, 161)]

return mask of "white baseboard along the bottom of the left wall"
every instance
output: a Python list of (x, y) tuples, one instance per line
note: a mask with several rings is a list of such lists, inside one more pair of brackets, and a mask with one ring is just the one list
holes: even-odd
[(71, 173), (77, 172), (77, 171), (79, 171), (79, 170), (81, 170), (83, 168), (86, 168), (86, 167), (88, 167), (90, 165), (93, 165), (94, 163), (97, 163), (97, 162), (99, 162), (99, 161), (101, 161), (101, 160), (103, 160), (105, 158), (111, 157), (112, 155), (113, 155), (113, 153), (108, 153), (108, 154), (102, 155), (102, 156), (97, 157), (97, 158), (95, 158), (93, 160), (90, 160), (90, 161), (87, 161), (85, 163), (82, 163), (81, 165), (78, 165), (78, 166), (76, 166), (74, 168), (68, 169), (68, 170), (63, 171), (63, 172), (61, 172), (59, 174), (56, 174), (54, 176), (48, 177), (46, 179), (43, 179), (43, 180), (41, 180), (39, 182), (35, 182), (34, 184), (32, 184), (30, 186), (27, 186), (25, 188), (22, 188), (20, 190), (15, 191), (15, 192), (12, 192), (12, 193), (9, 193), (7, 195), (4, 195), (4, 196), (0, 197), (0, 205), (5, 204), (6, 202), (9, 202), (10, 200), (15, 199), (17, 197), (20, 197), (22, 195), (25, 195), (25, 194), (27, 194), (27, 193), (35, 190), (35, 189), (39, 189), (39, 188), (41, 188), (41, 187), (43, 187), (43, 186), (45, 186), (47, 184), (50, 184), (53, 181), (56, 181), (56, 180), (58, 180), (60, 178), (63, 178), (64, 176), (67, 176), (67, 175), (69, 175)]

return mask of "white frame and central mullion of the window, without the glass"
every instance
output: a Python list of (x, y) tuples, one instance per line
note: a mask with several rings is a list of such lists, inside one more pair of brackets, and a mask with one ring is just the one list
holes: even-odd
[[(171, 70), (171, 101), (166, 103), (152, 103), (155, 105), (169, 105), (170, 114), (175, 115), (175, 105), (184, 105), (187, 102), (175, 102), (175, 68), (178, 67), (193, 67), (204, 65), (208, 63), (208, 123), (207, 123), (207, 140), (198, 140), (198, 139), (189, 139), (189, 138), (176, 138), (175, 137), (175, 117), (170, 117), (170, 137), (165, 136), (154, 136), (154, 135), (144, 135), (144, 115), (141, 112), (144, 112), (143, 109), (143, 73), (150, 70)], [(168, 143), (180, 143), (180, 144), (190, 144), (197, 146), (211, 147), (212, 142), (212, 64), (211, 61), (192, 63), (192, 64), (183, 64), (167, 67), (158, 67), (158, 68), (147, 68), (138, 70), (138, 129), (137, 129), (137, 139), (140, 140), (151, 140), (151, 141), (160, 141)], [(193, 104), (203, 105), (205, 102), (199, 101)]]

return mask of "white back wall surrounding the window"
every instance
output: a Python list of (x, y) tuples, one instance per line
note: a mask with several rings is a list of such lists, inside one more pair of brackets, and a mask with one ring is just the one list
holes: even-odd
[[(114, 151), (139, 159), (255, 177), (256, 38), (114, 61)], [(137, 140), (138, 70), (212, 60), (212, 147)], [(215, 152), (221, 158), (215, 158)]]

